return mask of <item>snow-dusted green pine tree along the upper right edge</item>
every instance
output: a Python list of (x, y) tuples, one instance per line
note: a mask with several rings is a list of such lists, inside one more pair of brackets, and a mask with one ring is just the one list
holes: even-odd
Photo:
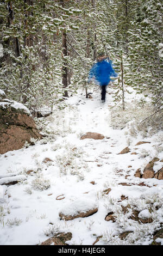
[(137, 93), (151, 96), (155, 111), (162, 109), (162, 3), (142, 1), (135, 5), (135, 20), (129, 31), (129, 62), (131, 75), (128, 83)]

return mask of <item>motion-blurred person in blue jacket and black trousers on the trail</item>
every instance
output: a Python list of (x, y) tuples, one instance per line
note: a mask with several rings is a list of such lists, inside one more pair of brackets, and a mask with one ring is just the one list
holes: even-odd
[(99, 53), (97, 63), (92, 66), (89, 72), (88, 83), (90, 83), (92, 78), (95, 78), (96, 83), (101, 87), (102, 102), (105, 102), (106, 87), (111, 81), (110, 76), (117, 77), (116, 72), (112, 68), (111, 60), (103, 52)]

